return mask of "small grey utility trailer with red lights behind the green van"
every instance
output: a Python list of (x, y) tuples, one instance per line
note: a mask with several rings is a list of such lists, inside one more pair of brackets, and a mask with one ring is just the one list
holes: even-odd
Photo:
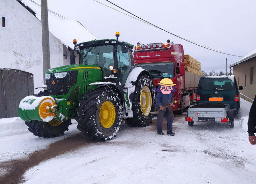
[(234, 127), (234, 109), (229, 104), (207, 103), (196, 104), (187, 109), (188, 126), (198, 122), (227, 122), (229, 128)]

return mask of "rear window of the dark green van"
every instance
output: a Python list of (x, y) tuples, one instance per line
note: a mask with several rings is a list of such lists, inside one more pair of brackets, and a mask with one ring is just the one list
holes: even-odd
[(234, 83), (229, 78), (201, 78), (200, 90), (234, 90)]

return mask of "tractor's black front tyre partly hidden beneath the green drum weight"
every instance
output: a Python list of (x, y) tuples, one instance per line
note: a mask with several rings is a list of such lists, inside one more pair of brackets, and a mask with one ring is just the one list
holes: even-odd
[(57, 137), (63, 135), (65, 131), (68, 131), (68, 126), (71, 125), (71, 119), (67, 121), (25, 121), (28, 126), (29, 132), (32, 132), (38, 137)]

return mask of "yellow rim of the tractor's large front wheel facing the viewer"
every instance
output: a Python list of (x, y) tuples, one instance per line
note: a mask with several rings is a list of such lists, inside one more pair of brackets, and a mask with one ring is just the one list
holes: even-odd
[(110, 101), (104, 102), (100, 107), (100, 123), (104, 128), (111, 127), (115, 122), (116, 110)]

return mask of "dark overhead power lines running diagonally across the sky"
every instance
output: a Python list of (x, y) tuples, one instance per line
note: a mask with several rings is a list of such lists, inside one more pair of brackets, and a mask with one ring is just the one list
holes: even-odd
[[(94, 1), (95, 1), (95, 0), (94, 0)], [(165, 31), (165, 32), (167, 32), (167, 33), (169, 33), (169, 34), (172, 34), (172, 35), (174, 35), (174, 36), (177, 36), (177, 37), (179, 37), (179, 38), (182, 39), (182, 40), (185, 40), (185, 41), (187, 41), (187, 42), (190, 42), (190, 43), (192, 43), (192, 44), (195, 44), (195, 45), (197, 45), (197, 46), (200, 46), (200, 47), (203, 47), (203, 48), (206, 48), (206, 49), (215, 51), (215, 52), (223, 53), (223, 54), (230, 55), (230, 56), (243, 57), (243, 56), (237, 56), (237, 55), (232, 55), (232, 54), (229, 54), (229, 53), (226, 53), (226, 52), (222, 52), (222, 51), (219, 51), (219, 50), (216, 50), (216, 49), (213, 49), (213, 48), (210, 48), (210, 47), (201, 45), (201, 44), (199, 44), (199, 43), (190, 41), (190, 40), (188, 40), (188, 39), (185, 39), (185, 38), (183, 38), (183, 37), (181, 37), (181, 36), (178, 36), (178, 35), (176, 35), (176, 34), (173, 34), (173, 33), (169, 32), (169, 31), (166, 31), (166, 30), (164, 30), (164, 29), (162, 29), (162, 28), (160, 28), (160, 27), (158, 27), (158, 26), (156, 26), (156, 25), (154, 25), (154, 24), (151, 24), (150, 22), (148, 22), (148, 21), (146, 21), (146, 20), (144, 20), (144, 19), (142, 19), (142, 18), (140, 18), (140, 17), (138, 17), (138, 16), (136, 16), (136, 15), (130, 13), (129, 11), (123, 9), (122, 7), (120, 7), (120, 6), (118, 6), (118, 5), (116, 5), (116, 4), (112, 3), (112, 2), (110, 2), (109, 0), (106, 0), (106, 1), (108, 1), (109, 3), (111, 3), (111, 4), (115, 5), (115, 6), (117, 6), (117, 7), (120, 8), (120, 9), (124, 10), (125, 12), (127, 12), (127, 13), (129, 13), (129, 14), (131, 14), (131, 15), (133, 15), (133, 16), (135, 16), (135, 17), (141, 19), (141, 20), (143, 20), (144, 23), (147, 23), (147, 24), (149, 24), (149, 25), (151, 25), (151, 26), (154, 26), (154, 27), (156, 27), (156, 28), (158, 28), (158, 29), (160, 29), (160, 30), (162, 30), (162, 31)], [(98, 1), (97, 1), (97, 2), (98, 2)], [(102, 4), (102, 3), (101, 3), (101, 4)], [(109, 6), (108, 6), (108, 7), (109, 7)], [(115, 10), (115, 9), (114, 9), (114, 10)], [(119, 12), (119, 11), (118, 11), (118, 12)], [(121, 13), (122, 13), (122, 12), (121, 12)], [(129, 16), (129, 15), (128, 15), (128, 16)], [(131, 17), (131, 16), (130, 16), (130, 17)], [(132, 17), (132, 18), (134, 18), (134, 17)], [(135, 18), (135, 19), (137, 19), (137, 18)], [(138, 19), (137, 19), (137, 20), (138, 20)], [(143, 22), (143, 21), (142, 21), (142, 22)]]

